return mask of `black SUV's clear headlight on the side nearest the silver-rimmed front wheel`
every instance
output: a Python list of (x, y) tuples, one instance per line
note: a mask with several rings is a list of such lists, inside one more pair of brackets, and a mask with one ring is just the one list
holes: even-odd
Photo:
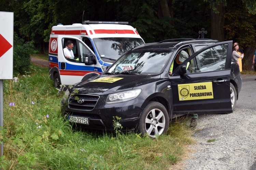
[(134, 89), (110, 94), (106, 100), (106, 104), (126, 102), (139, 96), (141, 89)]

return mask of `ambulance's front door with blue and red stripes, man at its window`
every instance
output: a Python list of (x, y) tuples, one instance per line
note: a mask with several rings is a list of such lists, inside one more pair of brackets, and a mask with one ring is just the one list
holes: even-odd
[[(72, 49), (74, 59), (64, 56), (63, 48), (66, 48), (67, 40), (71, 40), (74, 45)], [(59, 35), (58, 47), (58, 65), (61, 84), (72, 85), (81, 81), (84, 75), (95, 72), (96, 60), (94, 62), (87, 60), (89, 57), (95, 58), (95, 54), (81, 39), (74, 36)]]

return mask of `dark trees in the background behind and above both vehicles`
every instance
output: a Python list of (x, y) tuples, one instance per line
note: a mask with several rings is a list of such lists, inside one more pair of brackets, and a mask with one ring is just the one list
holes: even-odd
[[(244, 48), (255, 47), (255, 0), (200, 0), (196, 3), (193, 0), (172, 0), (166, 4), (170, 12), (167, 17), (162, 17), (162, 12), (166, 11), (161, 8), (159, 0), (80, 0), (74, 3), (68, 0), (2, 0), (0, 11), (14, 12), (14, 30), (19, 37), (32, 40), (40, 52), (47, 53), (52, 26), (82, 23), (84, 20), (128, 21), (146, 43), (170, 38), (198, 38), (201, 28), (208, 31), (205, 38), (211, 38), (214, 30), (210, 25), (216, 23), (211, 12), (223, 17), (224, 14), (217, 11), (217, 7), (223, 6), (227, 14), (226, 31), (219, 32), (222, 39), (237, 40)], [(239, 27), (232, 26), (238, 23), (237, 19), (233, 20), (237, 13)]]

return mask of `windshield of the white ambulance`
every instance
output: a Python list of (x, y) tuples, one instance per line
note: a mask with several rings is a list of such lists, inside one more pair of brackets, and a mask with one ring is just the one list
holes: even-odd
[(93, 41), (101, 59), (105, 62), (113, 62), (126, 51), (144, 44), (141, 38), (128, 37), (94, 38)]

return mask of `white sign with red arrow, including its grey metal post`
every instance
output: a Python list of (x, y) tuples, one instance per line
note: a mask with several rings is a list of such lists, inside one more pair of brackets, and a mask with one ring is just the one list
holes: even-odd
[[(13, 77), (13, 12), (0, 12), (0, 130), (3, 128), (3, 80)], [(0, 139), (3, 155), (3, 141)]]

